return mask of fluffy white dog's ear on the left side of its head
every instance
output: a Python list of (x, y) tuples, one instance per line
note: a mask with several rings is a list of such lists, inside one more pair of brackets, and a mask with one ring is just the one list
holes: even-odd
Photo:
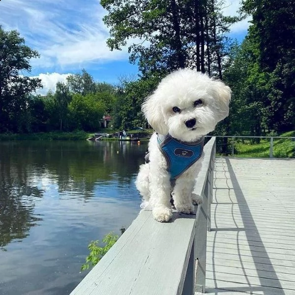
[(167, 134), (168, 128), (164, 123), (164, 116), (161, 105), (159, 104), (158, 95), (153, 93), (148, 96), (142, 105), (142, 111), (148, 120), (148, 124), (159, 134)]

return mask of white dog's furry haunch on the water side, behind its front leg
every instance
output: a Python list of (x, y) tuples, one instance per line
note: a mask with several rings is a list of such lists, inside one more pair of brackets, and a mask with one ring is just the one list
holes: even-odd
[(148, 201), (150, 197), (148, 174), (149, 164), (140, 165), (135, 185), (143, 198), (143, 203), (140, 206), (142, 209), (146, 209), (148, 207)]

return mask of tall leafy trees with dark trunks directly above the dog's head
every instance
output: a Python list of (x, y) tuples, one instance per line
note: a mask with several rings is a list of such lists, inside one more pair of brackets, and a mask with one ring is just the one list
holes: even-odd
[[(221, 66), (222, 34), (236, 18), (224, 18), (215, 0), (101, 0), (108, 11), (111, 50), (129, 46), (130, 61), (138, 63), (143, 77), (160, 76), (185, 66), (205, 72), (205, 48), (209, 64), (217, 56)], [(206, 35), (207, 34), (207, 35)], [(210, 50), (208, 49), (210, 47)]]

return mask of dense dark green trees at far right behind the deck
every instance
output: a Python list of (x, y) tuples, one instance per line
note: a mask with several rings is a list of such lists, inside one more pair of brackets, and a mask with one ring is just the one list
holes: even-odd
[(233, 90), (228, 134), (260, 136), (266, 129), (295, 128), (295, 27), (288, 25), (295, 11), (287, 1), (277, 5), (273, 0), (243, 2), (253, 22), (241, 46), (232, 48), (224, 73)]

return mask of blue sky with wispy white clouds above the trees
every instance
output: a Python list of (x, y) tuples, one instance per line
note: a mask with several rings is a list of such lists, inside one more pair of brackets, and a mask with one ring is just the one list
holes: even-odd
[[(226, 0), (224, 14), (236, 15), (239, 0)], [(30, 75), (42, 79), (43, 92), (56, 82), (85, 68), (95, 81), (118, 83), (124, 75), (136, 75), (128, 62), (127, 47), (110, 51), (109, 29), (99, 0), (0, 0), (0, 25), (17, 29), (40, 59), (31, 60)], [(231, 35), (239, 41), (247, 32), (248, 20), (235, 24)]]

